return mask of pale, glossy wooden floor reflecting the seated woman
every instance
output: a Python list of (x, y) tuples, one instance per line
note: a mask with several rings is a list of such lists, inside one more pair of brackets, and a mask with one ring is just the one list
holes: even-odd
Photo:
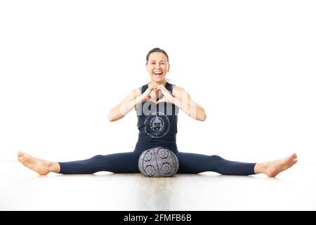
[(38, 176), (18, 162), (0, 161), (0, 210), (316, 210), (315, 170), (298, 164), (277, 178), (213, 172)]

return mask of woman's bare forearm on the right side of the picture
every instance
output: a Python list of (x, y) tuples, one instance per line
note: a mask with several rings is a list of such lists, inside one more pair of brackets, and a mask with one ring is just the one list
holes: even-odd
[(206, 120), (205, 110), (200, 105), (180, 101), (178, 98), (173, 98), (173, 104), (178, 106), (180, 110), (183, 110), (184, 113), (186, 113), (195, 120)]

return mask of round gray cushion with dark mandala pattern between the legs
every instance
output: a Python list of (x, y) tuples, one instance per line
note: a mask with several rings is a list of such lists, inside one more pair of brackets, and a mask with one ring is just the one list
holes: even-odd
[(144, 150), (138, 160), (138, 169), (145, 176), (173, 176), (179, 168), (176, 155), (164, 147)]

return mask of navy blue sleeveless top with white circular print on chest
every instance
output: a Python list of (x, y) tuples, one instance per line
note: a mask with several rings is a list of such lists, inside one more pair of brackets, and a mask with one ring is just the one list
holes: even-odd
[[(173, 84), (166, 82), (166, 89), (172, 95)], [(140, 87), (143, 94), (148, 84)], [(164, 95), (161, 94), (159, 99)], [(135, 150), (146, 150), (157, 146), (169, 148), (174, 153), (178, 152), (176, 145), (177, 122), (179, 108), (171, 103), (153, 103), (143, 101), (136, 108), (139, 130)]]

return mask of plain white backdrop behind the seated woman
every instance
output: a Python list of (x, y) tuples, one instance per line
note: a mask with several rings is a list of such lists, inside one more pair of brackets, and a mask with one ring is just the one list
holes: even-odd
[(179, 114), (178, 148), (230, 160), (316, 161), (315, 1), (1, 1), (0, 159), (133, 150), (147, 51), (206, 110)]

